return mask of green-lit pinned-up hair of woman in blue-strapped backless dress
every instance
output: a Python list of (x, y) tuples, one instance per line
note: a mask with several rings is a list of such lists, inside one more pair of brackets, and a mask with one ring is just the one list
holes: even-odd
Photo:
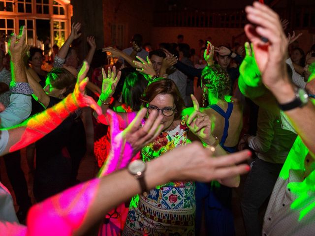
[[(224, 99), (231, 90), (231, 80), (226, 71), (219, 65), (206, 66), (202, 70), (201, 83), (207, 89), (209, 103), (210, 99)], [(211, 100), (213, 100), (211, 99)]]

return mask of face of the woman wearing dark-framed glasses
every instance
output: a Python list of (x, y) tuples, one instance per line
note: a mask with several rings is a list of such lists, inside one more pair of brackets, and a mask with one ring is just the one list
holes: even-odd
[[(169, 108), (176, 109), (175, 104), (174, 104), (174, 98), (170, 94), (158, 94), (151, 102), (149, 102), (148, 105), (154, 106), (157, 109), (161, 109), (161, 110), (162, 109), (167, 110)], [(158, 110), (158, 114), (163, 116), (163, 119), (161, 122), (164, 125), (163, 130), (165, 130), (165, 131), (172, 130), (173, 129), (172, 124), (174, 121), (174, 116), (175, 116), (176, 110), (175, 110), (174, 114), (172, 116), (169, 116), (169, 117), (164, 116), (161, 110)]]

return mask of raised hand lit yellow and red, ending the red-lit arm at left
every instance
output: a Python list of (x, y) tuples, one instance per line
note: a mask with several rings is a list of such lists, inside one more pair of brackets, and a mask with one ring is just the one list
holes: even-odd
[(72, 98), (74, 100), (74, 103), (78, 107), (91, 107), (92, 109), (95, 110), (95, 112), (98, 115), (101, 115), (102, 114), (101, 108), (97, 105), (97, 103), (92, 97), (86, 94), (85, 91), (85, 87), (89, 82), (89, 78), (86, 77), (89, 68), (90, 68), (89, 64), (86, 61), (84, 61), (83, 66), (78, 74), (78, 79), (72, 93)]

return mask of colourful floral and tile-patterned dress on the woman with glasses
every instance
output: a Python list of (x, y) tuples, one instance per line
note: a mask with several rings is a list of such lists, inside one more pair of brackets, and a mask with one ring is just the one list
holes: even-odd
[[(188, 130), (182, 119), (174, 130), (163, 131), (154, 142), (142, 149), (143, 161), (150, 161), (166, 151), (186, 145), (189, 142)], [(168, 182), (151, 189), (147, 196), (133, 198), (123, 235), (193, 236), (194, 217), (194, 182)]]

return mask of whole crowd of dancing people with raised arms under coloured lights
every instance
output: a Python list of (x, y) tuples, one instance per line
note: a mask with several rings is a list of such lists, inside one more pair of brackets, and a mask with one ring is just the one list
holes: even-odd
[[(72, 24), (49, 71), (25, 27), (12, 35), (9, 56), (0, 50), (0, 154), (19, 210), (0, 183), (1, 235), (109, 235), (116, 214), (112, 235), (233, 236), (243, 174), (244, 234), (314, 234), (315, 45), (304, 53), (264, 4), (245, 11), (244, 47), (199, 40), (200, 55), (184, 35), (153, 49), (135, 34), (124, 50), (96, 50), (90, 36), (80, 62)], [(80, 183), (84, 107), (99, 173)]]

